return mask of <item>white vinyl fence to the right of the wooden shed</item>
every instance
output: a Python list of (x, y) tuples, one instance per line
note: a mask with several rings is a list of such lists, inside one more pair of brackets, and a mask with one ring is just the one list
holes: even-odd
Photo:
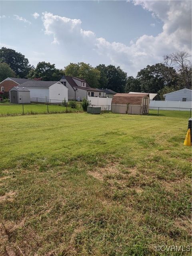
[(168, 101), (168, 100), (151, 100), (149, 104), (150, 109), (162, 110), (189, 110), (192, 108), (191, 101)]

